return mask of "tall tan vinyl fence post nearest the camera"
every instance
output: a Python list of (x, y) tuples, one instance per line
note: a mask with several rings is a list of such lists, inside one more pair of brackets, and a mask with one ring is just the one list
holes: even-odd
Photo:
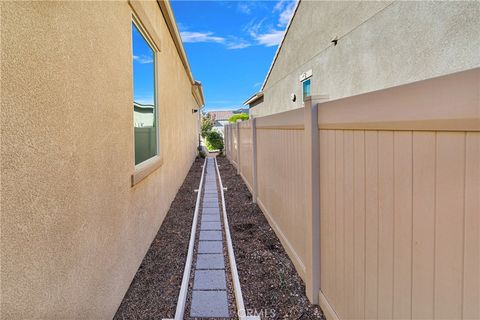
[(305, 100), (305, 204), (306, 204), (306, 294), (318, 304), (320, 291), (320, 145), (317, 104)]

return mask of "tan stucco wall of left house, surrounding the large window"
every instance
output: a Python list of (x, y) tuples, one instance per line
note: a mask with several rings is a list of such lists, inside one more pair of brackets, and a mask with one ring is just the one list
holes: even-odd
[(132, 9), (1, 2), (1, 318), (111, 318), (195, 156), (191, 82), (156, 2), (163, 165), (134, 173)]

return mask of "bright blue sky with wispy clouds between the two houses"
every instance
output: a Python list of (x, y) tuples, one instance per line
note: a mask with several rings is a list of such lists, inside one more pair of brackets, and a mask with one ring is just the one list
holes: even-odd
[(295, 2), (171, 2), (207, 110), (238, 109), (260, 87)]

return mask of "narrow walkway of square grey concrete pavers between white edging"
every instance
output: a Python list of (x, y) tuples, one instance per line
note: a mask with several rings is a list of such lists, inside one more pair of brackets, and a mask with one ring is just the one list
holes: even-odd
[(190, 317), (228, 318), (224, 242), (215, 159), (207, 159)]

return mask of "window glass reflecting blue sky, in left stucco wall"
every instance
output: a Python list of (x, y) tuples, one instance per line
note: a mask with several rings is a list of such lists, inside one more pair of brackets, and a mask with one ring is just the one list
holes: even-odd
[(135, 164), (157, 155), (155, 52), (132, 22)]

